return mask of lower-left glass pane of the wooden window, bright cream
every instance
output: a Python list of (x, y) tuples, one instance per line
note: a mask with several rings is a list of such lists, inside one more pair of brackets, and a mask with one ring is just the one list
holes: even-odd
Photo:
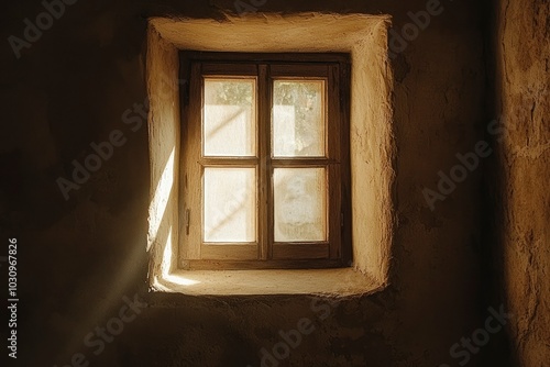
[(254, 168), (205, 168), (205, 242), (256, 241)]

